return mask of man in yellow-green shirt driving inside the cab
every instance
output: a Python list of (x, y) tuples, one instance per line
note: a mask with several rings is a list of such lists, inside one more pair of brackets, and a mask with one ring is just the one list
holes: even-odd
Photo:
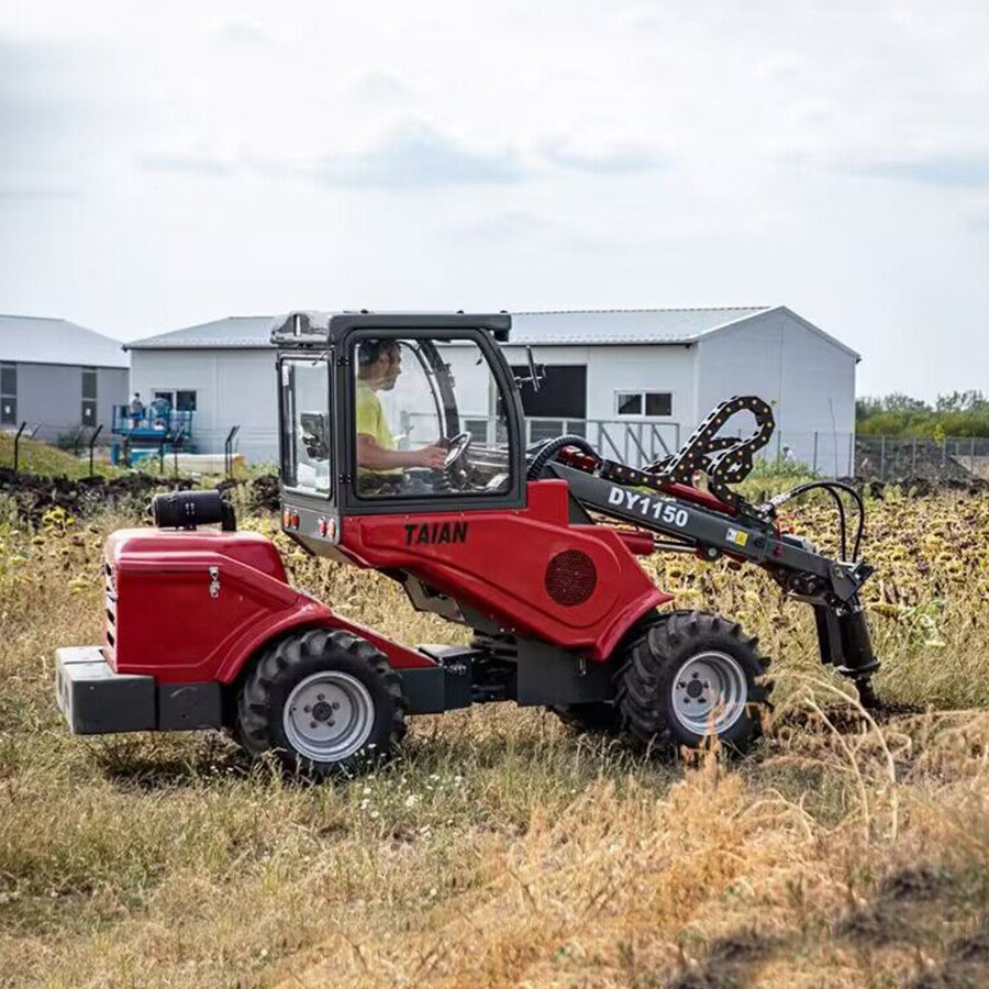
[(357, 346), (357, 466), (365, 473), (400, 474), (407, 467), (443, 469), (442, 446), (396, 449), (378, 391), (391, 391), (402, 373), (402, 352), (395, 340), (365, 340)]

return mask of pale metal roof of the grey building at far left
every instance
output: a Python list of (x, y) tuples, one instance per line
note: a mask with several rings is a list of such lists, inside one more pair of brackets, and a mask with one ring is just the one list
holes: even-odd
[(0, 315), (0, 360), (129, 367), (119, 340), (68, 320)]

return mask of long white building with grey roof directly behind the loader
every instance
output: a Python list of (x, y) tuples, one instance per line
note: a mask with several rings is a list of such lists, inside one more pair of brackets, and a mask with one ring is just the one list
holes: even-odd
[[(238, 425), (240, 451), (274, 462), (270, 324), (231, 316), (129, 344), (132, 390), (195, 409), (197, 449), (221, 451)], [(509, 363), (524, 368), (530, 347), (546, 369), (538, 392), (522, 391), (533, 438), (581, 432), (605, 456), (642, 463), (675, 448), (721, 400), (754, 393), (776, 415), (767, 455), (849, 473), (859, 356), (786, 307), (514, 313)], [(469, 378), (475, 369), (449, 352), (458, 380)], [(462, 410), (468, 424), (487, 415), (487, 396), (477, 398)]]

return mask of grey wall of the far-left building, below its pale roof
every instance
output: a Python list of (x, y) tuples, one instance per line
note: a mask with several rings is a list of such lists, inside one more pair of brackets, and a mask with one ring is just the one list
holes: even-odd
[[(18, 365), (18, 422), (54, 441), (82, 425), (82, 368), (67, 364)], [(97, 422), (109, 434), (112, 407), (127, 399), (127, 369), (97, 368)]]

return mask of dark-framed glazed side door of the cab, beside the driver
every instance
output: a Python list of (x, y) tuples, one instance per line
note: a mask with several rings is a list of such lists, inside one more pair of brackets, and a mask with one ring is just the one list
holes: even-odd
[(521, 407), (488, 333), (368, 329), (342, 349), (344, 514), (524, 504)]

